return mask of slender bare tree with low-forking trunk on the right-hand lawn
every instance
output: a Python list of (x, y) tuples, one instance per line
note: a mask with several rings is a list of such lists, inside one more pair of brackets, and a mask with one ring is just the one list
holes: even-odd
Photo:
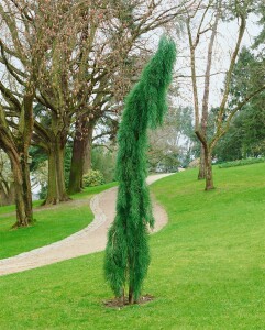
[[(195, 133), (201, 143), (201, 166), (199, 178), (206, 178), (206, 190), (213, 189), (213, 176), (212, 176), (212, 152), (218, 141), (225, 134), (230, 127), (230, 122), (234, 114), (255, 95), (264, 90), (265, 86), (258, 86), (255, 90), (245, 95), (244, 99), (240, 100), (232, 109), (228, 111), (229, 91), (232, 80), (232, 74), (235, 65), (235, 61), (240, 51), (241, 42), (246, 29), (246, 19), (249, 12), (253, 9), (252, 1), (227, 1), (222, 0), (209, 0), (200, 2), (194, 11), (187, 12), (187, 32), (190, 51), (190, 69), (192, 81), (192, 96), (195, 108)], [(216, 116), (216, 130), (214, 134), (209, 136), (208, 134), (208, 112), (209, 112), (209, 94), (210, 94), (210, 77), (212, 68), (213, 45), (218, 35), (218, 25), (230, 15), (230, 19), (236, 19), (239, 21), (239, 30), (236, 41), (232, 55), (230, 57), (229, 68), (225, 73), (224, 88), (218, 107), (218, 113)], [(198, 19), (199, 18), (199, 19)], [(195, 35), (191, 29), (194, 23), (197, 22), (195, 29)], [(197, 75), (197, 62), (196, 62), (196, 48), (200, 41), (208, 36), (208, 50), (205, 69), (203, 81), (203, 96), (200, 108), (199, 94), (198, 94), (198, 75)]]

